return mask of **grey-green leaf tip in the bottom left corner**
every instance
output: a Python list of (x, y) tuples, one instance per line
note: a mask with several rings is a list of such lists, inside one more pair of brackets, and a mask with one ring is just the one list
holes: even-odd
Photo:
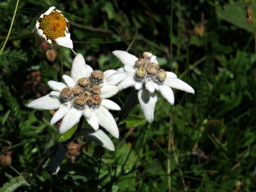
[(0, 192), (13, 192), (20, 186), (30, 186), (30, 184), (24, 180), (22, 176), (17, 176), (12, 179), (10, 179), (9, 182), (6, 182), (2, 188), (0, 188)]

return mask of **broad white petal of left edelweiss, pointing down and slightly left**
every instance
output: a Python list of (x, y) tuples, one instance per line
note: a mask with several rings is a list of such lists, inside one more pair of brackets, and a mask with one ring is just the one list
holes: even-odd
[(70, 130), (76, 123), (79, 122), (82, 116), (82, 110), (71, 108), (69, 112), (64, 116), (60, 124), (60, 134), (64, 134)]

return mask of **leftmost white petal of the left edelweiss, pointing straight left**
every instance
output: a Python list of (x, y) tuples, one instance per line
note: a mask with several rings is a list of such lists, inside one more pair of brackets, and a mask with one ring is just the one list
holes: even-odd
[(60, 107), (60, 100), (56, 97), (50, 96), (50, 94), (43, 96), (39, 99), (36, 99), (28, 104), (29, 108), (34, 109), (46, 109), (46, 110), (55, 110)]

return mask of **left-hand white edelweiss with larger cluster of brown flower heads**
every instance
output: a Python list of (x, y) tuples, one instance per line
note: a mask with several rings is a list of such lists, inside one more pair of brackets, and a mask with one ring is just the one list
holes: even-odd
[(28, 107), (46, 110), (58, 109), (50, 123), (54, 124), (63, 118), (60, 134), (72, 128), (84, 115), (94, 130), (98, 130), (100, 125), (118, 138), (118, 127), (108, 110), (120, 110), (120, 107), (106, 99), (118, 92), (118, 87), (113, 85), (116, 80), (111, 80), (112, 77), (109, 78), (109, 74), (113, 73), (112, 70), (105, 73), (100, 70), (93, 71), (90, 66), (85, 64), (83, 56), (78, 54), (72, 64), (71, 77), (63, 75), (66, 84), (49, 81), (48, 85), (54, 91), (32, 101)]

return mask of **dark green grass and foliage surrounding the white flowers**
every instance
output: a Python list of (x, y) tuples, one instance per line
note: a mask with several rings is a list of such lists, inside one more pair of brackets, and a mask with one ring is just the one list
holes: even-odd
[[(15, 6), (0, 1), (1, 48)], [(138, 57), (152, 50), (195, 95), (176, 90), (174, 106), (159, 97), (151, 124), (134, 107), (112, 139), (115, 152), (93, 158), (92, 142), (75, 163), (64, 156), (52, 175), (48, 151), (54, 142), (66, 148), (72, 134), (56, 136), (49, 111), (25, 106), (50, 91), (48, 80), (61, 81), (74, 59), (68, 48), (35, 46), (31, 32), (50, 6), (68, 18), (74, 50), (94, 69), (121, 67), (114, 50)], [(256, 191), (255, 16), (254, 0), (20, 1), (0, 54), (0, 147), (12, 157), (0, 166), (0, 192)], [(130, 91), (112, 100), (123, 106)]]

